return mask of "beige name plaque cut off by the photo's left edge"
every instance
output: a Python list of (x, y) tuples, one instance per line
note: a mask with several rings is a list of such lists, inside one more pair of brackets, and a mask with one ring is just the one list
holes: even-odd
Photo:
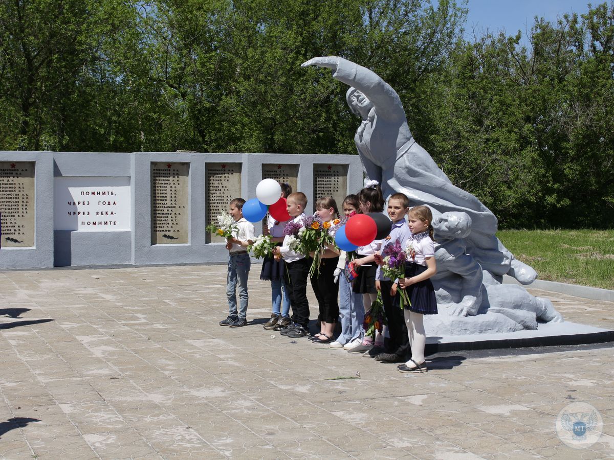
[(0, 161), (0, 247), (34, 246), (33, 161)]

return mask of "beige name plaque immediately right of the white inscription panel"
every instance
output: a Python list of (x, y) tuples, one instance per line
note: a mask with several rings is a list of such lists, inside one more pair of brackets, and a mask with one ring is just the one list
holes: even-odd
[(190, 163), (151, 163), (152, 245), (188, 242)]

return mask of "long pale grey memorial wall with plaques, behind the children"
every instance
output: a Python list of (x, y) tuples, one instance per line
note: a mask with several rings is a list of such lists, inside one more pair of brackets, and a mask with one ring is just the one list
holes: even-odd
[(263, 178), (305, 193), (308, 213), (363, 183), (357, 155), (0, 151), (0, 269), (224, 264), (205, 226)]

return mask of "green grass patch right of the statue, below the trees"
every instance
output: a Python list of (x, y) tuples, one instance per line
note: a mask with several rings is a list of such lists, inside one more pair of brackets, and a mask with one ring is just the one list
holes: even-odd
[(540, 280), (614, 289), (614, 230), (501, 230), (497, 237)]

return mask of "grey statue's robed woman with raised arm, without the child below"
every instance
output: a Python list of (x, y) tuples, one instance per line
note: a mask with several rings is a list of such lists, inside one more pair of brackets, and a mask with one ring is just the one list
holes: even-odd
[(471, 218), (467, 250), (483, 269), (499, 276), (509, 274), (523, 284), (535, 279), (535, 270), (515, 259), (495, 237), (495, 215), (475, 196), (454, 186), (414, 140), (401, 99), (388, 83), (375, 72), (336, 56), (309, 59), (301, 65), (306, 66), (328, 67), (335, 79), (351, 86), (346, 100), (352, 112), (362, 117), (354, 136), (356, 148), (365, 174), (381, 184), (384, 197), (402, 192), (413, 205), (428, 204), (434, 211), (433, 226), (445, 221), (446, 212), (466, 213)]

